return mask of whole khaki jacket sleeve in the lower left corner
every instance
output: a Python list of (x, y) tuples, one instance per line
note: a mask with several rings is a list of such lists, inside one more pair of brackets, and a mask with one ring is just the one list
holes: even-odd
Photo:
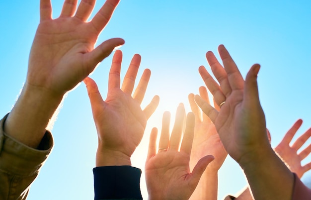
[(25, 200), (52, 150), (53, 137), (46, 131), (38, 149), (30, 148), (4, 133), (7, 115), (0, 120), (0, 200)]

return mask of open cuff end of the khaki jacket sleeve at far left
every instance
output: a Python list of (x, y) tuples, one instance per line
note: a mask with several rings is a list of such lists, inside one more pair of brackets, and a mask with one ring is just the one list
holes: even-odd
[(28, 147), (4, 133), (7, 115), (0, 120), (0, 169), (18, 176), (32, 176), (38, 173), (52, 150), (52, 134), (46, 131), (38, 149)]

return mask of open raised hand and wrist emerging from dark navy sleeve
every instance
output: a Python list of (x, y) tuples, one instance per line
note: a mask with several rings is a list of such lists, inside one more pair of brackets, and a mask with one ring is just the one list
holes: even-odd
[(121, 62), (122, 52), (117, 50), (112, 59), (106, 100), (92, 79), (84, 80), (98, 134), (96, 167), (131, 165), (131, 156), (144, 135), (147, 119), (159, 102), (155, 96), (144, 110), (140, 106), (151, 75), (149, 69), (144, 71), (132, 97), (141, 56), (133, 56), (120, 88)]

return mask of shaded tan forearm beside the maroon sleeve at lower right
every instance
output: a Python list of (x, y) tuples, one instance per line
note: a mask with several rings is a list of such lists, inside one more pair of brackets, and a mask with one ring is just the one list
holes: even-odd
[(271, 148), (240, 161), (256, 200), (291, 200), (294, 177)]

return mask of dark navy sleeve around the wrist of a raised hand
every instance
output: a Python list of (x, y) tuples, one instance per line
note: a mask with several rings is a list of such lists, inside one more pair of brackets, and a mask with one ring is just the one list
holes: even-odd
[(93, 169), (95, 200), (142, 200), (142, 171), (131, 166), (106, 166)]

